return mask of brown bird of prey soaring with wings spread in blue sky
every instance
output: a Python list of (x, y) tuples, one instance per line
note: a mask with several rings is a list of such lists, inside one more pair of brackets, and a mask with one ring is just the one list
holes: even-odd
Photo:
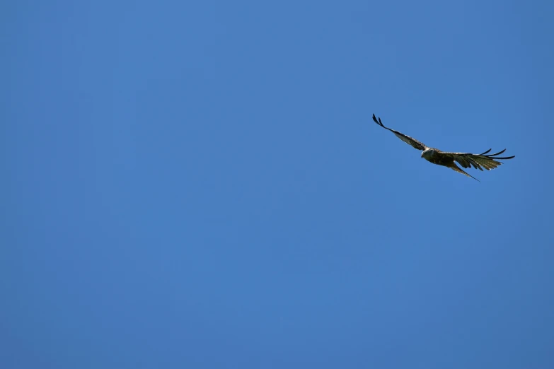
[(461, 168), (454, 163), (455, 161), (458, 162), (463, 168), (471, 168), (473, 165), (473, 168), (483, 170), (485, 168), (486, 170), (491, 170), (497, 168), (498, 165), (501, 165), (500, 161), (496, 160), (507, 160), (515, 158), (515, 156), (506, 156), (504, 158), (498, 157), (501, 153), (506, 151), (504, 150), (499, 151), (495, 154), (489, 154), (490, 148), (485, 151), (484, 153), (480, 154), (473, 154), (473, 153), (448, 153), (446, 151), (440, 151), (437, 150), (437, 148), (431, 148), (427, 145), (423, 144), (420, 141), (417, 141), (416, 139), (412, 139), (410, 136), (406, 136), (405, 134), (400, 133), (399, 131), (395, 131), (394, 129), (390, 129), (388, 127), (383, 126), (383, 123), (381, 122), (381, 118), (377, 120), (375, 115), (373, 115), (373, 120), (376, 122), (376, 124), (379, 124), (384, 129), (388, 129), (389, 131), (393, 132), (399, 139), (404, 141), (406, 144), (417, 148), (417, 150), (422, 150), (421, 157), (425, 158), (426, 160), (430, 161), (433, 164), (442, 165), (446, 168), (450, 168), (451, 170), (456, 170), (456, 172), (461, 173), (463, 175), (467, 175), (468, 177), (472, 177), (474, 180), (480, 182), (477, 178), (473, 177), (472, 175), (469, 175), (468, 173), (464, 172)]

